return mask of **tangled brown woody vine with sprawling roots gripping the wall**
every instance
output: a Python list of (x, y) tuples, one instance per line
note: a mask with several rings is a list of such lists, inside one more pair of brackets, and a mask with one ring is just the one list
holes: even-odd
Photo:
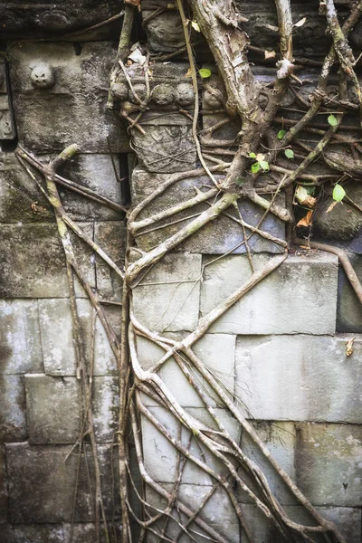
[[(138, 130), (142, 133), (142, 116), (148, 109), (148, 102), (151, 100), (150, 83), (148, 76), (148, 66), (153, 62), (149, 53), (146, 53), (146, 62), (144, 69), (145, 85), (147, 92), (145, 96), (138, 96), (137, 90), (133, 87), (127, 72), (127, 60), (130, 51), (130, 36), (134, 19), (135, 5), (139, 2), (128, 1), (125, 6), (125, 15), (123, 19), (122, 30), (119, 39), (119, 51), (116, 62), (110, 74), (110, 108), (114, 108), (119, 117), (129, 123), (129, 131)], [(297, 198), (304, 208), (309, 209), (307, 217), (304, 217), (304, 224), (310, 225), (310, 211), (315, 200), (313, 194), (318, 195), (320, 187), (333, 184), (333, 197), (336, 205), (345, 197), (345, 191), (340, 181), (341, 174), (348, 176), (357, 176), (360, 164), (360, 153), (362, 148), (354, 138), (349, 138), (343, 134), (338, 134), (343, 118), (348, 110), (356, 111), (358, 115), (362, 112), (362, 92), (357, 80), (355, 66), (358, 61), (355, 57), (350, 44), (348, 43), (348, 34), (357, 24), (362, 15), (362, 2), (353, 5), (348, 18), (341, 25), (338, 20), (338, 13), (333, 0), (320, 1), (319, 10), (324, 14), (327, 21), (327, 28), (332, 39), (330, 51), (323, 62), (320, 62), (319, 81), (316, 90), (306, 101), (299, 97), (300, 107), (304, 109), (301, 119), (293, 121), (289, 126), (281, 127), (281, 119), (278, 118), (278, 111), (281, 102), (287, 90), (291, 88), (291, 81), (299, 81), (295, 75), (298, 65), (308, 63), (306, 59), (293, 58), (293, 29), (303, 22), (293, 24), (291, 17), (290, 0), (275, 0), (276, 12), (278, 15), (278, 26), (280, 33), (280, 51), (269, 52), (269, 58), (276, 62), (276, 77), (272, 85), (261, 86), (252, 74), (251, 64), (248, 60), (248, 51), (252, 49), (252, 44), (246, 33), (243, 32), (241, 24), (245, 20), (243, 14), (235, 10), (231, 0), (223, 0), (221, 3), (214, 3), (213, 0), (189, 0), (185, 6), (181, 0), (176, 0), (183, 24), (186, 40), (186, 52), (190, 65), (190, 76), (195, 90), (195, 107), (192, 116), (192, 134), (194, 138), (197, 157), (200, 166), (192, 171), (186, 171), (178, 174), (170, 174), (167, 180), (157, 189), (148, 195), (144, 200), (131, 209), (125, 209), (109, 199), (96, 194), (89, 188), (77, 185), (69, 179), (59, 174), (62, 164), (71, 159), (80, 149), (76, 144), (64, 149), (48, 165), (44, 165), (36, 157), (33, 157), (26, 149), (19, 147), (16, 155), (22, 165), (26, 168), (34, 183), (39, 186), (43, 195), (52, 205), (58, 226), (58, 232), (62, 240), (62, 247), (65, 254), (67, 273), (70, 288), (71, 313), (73, 324), (73, 337), (77, 354), (78, 376), (81, 379), (83, 392), (82, 399), (82, 426), (79, 440), (74, 444), (72, 450), (81, 451), (85, 440), (90, 440), (90, 446), (94, 458), (95, 467), (95, 495), (94, 512), (95, 522), (100, 538), (100, 532), (104, 532), (104, 537), (110, 541), (112, 534), (108, 528), (107, 519), (104, 512), (102, 500), (102, 481), (100, 477), (100, 466), (98, 461), (97, 443), (94, 434), (93, 417), (91, 410), (91, 382), (92, 382), (92, 361), (94, 349), (87, 360), (84, 354), (84, 346), (81, 338), (80, 319), (77, 312), (77, 305), (74, 293), (74, 277), (81, 281), (81, 285), (87, 292), (93, 308), (92, 329), (94, 337), (96, 319), (100, 319), (107, 337), (110, 341), (110, 347), (118, 360), (119, 367), (119, 431), (118, 440), (118, 459), (119, 459), (119, 495), (121, 501), (122, 517), (122, 543), (135, 541), (135, 536), (131, 525), (137, 524), (139, 543), (148, 539), (152, 535), (157, 541), (178, 540), (186, 535), (187, 540), (195, 541), (199, 536), (197, 530), (201, 529), (205, 534), (204, 538), (211, 541), (226, 543), (227, 539), (214, 529), (203, 517), (203, 508), (218, 489), (224, 489), (230, 503), (235, 510), (236, 516), (243, 530), (243, 535), (250, 543), (257, 543), (252, 529), (248, 526), (244, 518), (243, 508), (238, 501), (238, 492), (243, 491), (248, 499), (258, 510), (268, 519), (275, 531), (284, 541), (328, 541), (329, 543), (343, 543), (345, 539), (339, 533), (338, 529), (327, 519), (324, 519), (318, 510), (316, 510), (310, 501), (302, 494), (299, 488), (291, 481), (290, 476), (281, 468), (272, 458), (270, 452), (258, 436), (252, 424), (249, 422), (243, 407), (234, 401), (233, 395), (220, 383), (208, 367), (195, 355), (194, 346), (196, 341), (205, 335), (205, 332), (212, 326), (216, 319), (219, 319), (224, 313), (233, 307), (238, 300), (251, 291), (265, 277), (275, 271), (288, 256), (288, 250), (291, 243), (302, 243), (309, 248), (318, 248), (324, 251), (336, 252), (341, 265), (347, 271), (348, 279), (356, 291), (358, 299), (362, 302), (362, 287), (357, 279), (355, 271), (348, 261), (345, 252), (332, 246), (313, 243), (310, 239), (298, 240), (292, 239), (294, 232), (293, 199)], [(160, 8), (161, 9), (161, 8)], [(166, 8), (165, 8), (166, 9)], [(218, 67), (219, 75), (224, 81), (227, 100), (224, 103), (224, 112), (230, 119), (240, 119), (242, 129), (235, 142), (236, 150), (233, 153), (227, 153), (223, 144), (219, 144), (217, 152), (207, 147), (207, 138), (212, 138), (218, 125), (211, 129), (200, 132), (199, 120), (199, 97), (201, 78), (207, 78), (207, 71), (203, 72), (197, 69), (194, 60), (194, 52), (190, 41), (190, 28), (194, 26), (197, 31), (204, 34), (205, 39), (214, 55), (214, 60)], [(257, 51), (257, 48), (253, 48)], [(263, 52), (261, 52), (263, 53)], [(317, 62), (318, 63), (318, 62)], [(339, 89), (338, 96), (330, 100), (326, 94), (327, 85), (331, 71), (338, 72)], [(125, 105), (117, 102), (117, 97), (112, 93), (112, 86), (118, 81), (119, 74), (125, 78), (132, 91), (136, 105), (133, 109), (127, 110)], [(352, 102), (348, 100), (348, 87), (355, 91), (357, 100)], [(297, 90), (293, 90), (298, 94)], [(266, 97), (266, 105), (262, 107), (260, 96)], [(328, 108), (327, 108), (328, 106)], [(329, 128), (320, 131), (310, 127), (315, 116), (321, 111), (329, 111)], [(186, 113), (189, 115), (189, 113)], [(362, 118), (361, 118), (362, 119)], [(228, 122), (227, 120), (225, 122)], [(361, 126), (362, 126), (362, 120)], [(320, 135), (318, 143), (313, 148), (303, 143), (300, 139), (302, 130), (314, 130), (315, 134)], [(346, 163), (341, 164), (335, 153), (328, 152), (329, 144), (338, 140), (353, 148), (352, 157), (348, 158), (348, 172), (346, 172)], [(231, 160), (230, 160), (231, 157)], [(283, 158), (282, 162), (280, 161)], [(333, 174), (310, 174), (307, 168), (310, 164), (321, 157), (325, 160), (329, 168), (335, 171)], [(285, 158), (288, 163), (286, 164)], [(272, 174), (272, 182), (268, 185), (262, 185), (262, 176), (265, 172)], [(153, 203), (159, 195), (162, 195), (171, 186), (176, 186), (183, 179), (208, 176), (211, 186), (207, 190), (197, 190), (194, 197), (164, 209), (157, 214), (151, 214), (147, 218), (139, 218), (139, 215)], [(100, 205), (107, 205), (116, 211), (127, 213), (127, 251), (125, 270), (119, 267), (110, 259), (110, 256), (102, 250), (90, 237), (84, 233), (78, 224), (75, 224), (62, 206), (62, 200), (57, 186), (61, 184), (86, 198), (98, 202)], [(307, 189), (308, 187), (308, 189)], [(310, 190), (312, 187), (312, 190)], [(318, 189), (317, 192), (315, 189)], [(286, 202), (282, 206), (277, 196), (285, 191)], [(314, 192), (313, 192), (314, 191)], [(266, 197), (268, 195), (269, 197)], [(238, 202), (249, 200), (262, 208), (262, 218), (256, 226), (247, 224), (240, 214)], [(186, 225), (168, 237), (162, 243), (148, 252), (138, 250), (139, 258), (134, 261), (129, 259), (129, 250), (135, 246), (134, 239), (138, 233), (145, 229), (159, 224), (161, 221), (173, 217), (187, 209), (192, 210), (196, 205), (205, 204), (206, 209), (202, 213), (195, 214), (186, 221)], [(138, 321), (132, 306), (132, 291), (145, 278), (148, 271), (159, 262), (167, 252), (175, 249), (180, 243), (197, 233), (205, 224), (217, 221), (223, 214), (228, 214), (228, 210), (236, 209), (237, 216), (233, 220), (239, 224), (243, 232), (243, 244), (251, 265), (251, 279), (244, 282), (233, 292), (226, 300), (217, 305), (213, 310), (207, 313), (195, 330), (186, 335), (182, 340), (173, 340), (164, 337), (147, 329)], [(281, 221), (288, 225), (288, 242), (278, 239), (271, 233), (263, 230), (262, 224), (268, 214), (274, 214)], [(185, 222), (185, 220), (184, 220)], [(163, 225), (165, 223), (162, 223)], [(119, 275), (123, 280), (123, 298), (122, 298), (122, 327), (120, 341), (117, 334), (110, 325), (107, 314), (104, 310), (102, 300), (100, 300), (96, 291), (90, 288), (84, 273), (81, 271), (77, 260), (75, 248), (71, 242), (71, 233), (78, 235), (84, 243), (90, 245), (92, 251), (106, 262), (110, 269)], [(250, 239), (252, 235), (258, 234), (263, 238), (276, 243), (281, 248), (281, 254), (271, 256), (262, 269), (254, 270), (252, 263), (252, 249)], [(228, 252), (230, 253), (230, 252)], [(228, 254), (227, 253), (227, 254)], [(222, 255), (218, 258), (223, 258)], [(198, 281), (202, 281), (202, 277)], [(163, 349), (164, 355), (157, 363), (145, 370), (138, 359), (137, 338), (147, 338), (148, 341)], [(200, 422), (195, 416), (186, 412), (177, 402), (171, 390), (166, 386), (159, 370), (167, 360), (173, 358), (177, 366), (186, 376), (190, 386), (201, 399), (205, 409), (213, 420), (214, 427), (209, 427)], [(265, 459), (271, 463), (272, 468), (279, 474), (281, 480), (295, 496), (301, 506), (305, 508), (314, 520), (311, 525), (304, 525), (293, 521), (286, 510), (283, 509), (279, 501), (271, 491), (267, 477), (261, 468), (252, 461), (248, 454), (243, 450), (240, 443), (236, 443), (233, 436), (224, 426), (223, 421), (214, 408), (214, 403), (210, 399), (210, 393), (205, 392), (205, 388), (200, 386), (196, 377), (201, 375), (212, 394), (217, 397), (217, 405), (222, 405), (224, 409), (233, 415), (238, 424), (243, 428), (254, 446), (262, 452)], [(180, 427), (189, 432), (189, 441), (187, 444), (181, 440), (181, 436), (176, 438), (171, 435), (167, 428), (157, 420), (154, 412), (148, 409), (143, 401), (143, 395), (151, 398), (156, 405), (165, 407), (172, 414)], [(166, 489), (157, 481), (154, 481), (148, 473), (144, 462), (141, 442), (141, 417), (147, 419), (153, 424), (159, 433), (161, 433), (171, 443), (175, 449), (177, 457), (177, 473), (172, 489)], [(217, 428), (215, 430), (214, 428)], [(130, 435), (130, 436), (129, 436)], [(131, 440), (137, 452), (138, 468), (141, 474), (142, 484), (136, 485), (129, 467), (129, 440)], [(210, 462), (207, 462), (205, 456), (195, 456), (192, 452), (192, 445), (200, 447), (210, 453), (224, 467), (227, 475), (221, 475), (214, 469)], [(186, 505), (179, 495), (183, 472), (186, 462), (194, 463), (198, 468), (207, 473), (214, 481), (211, 490), (205, 495), (205, 498), (198, 504), (197, 509), (192, 509)], [(166, 503), (164, 506), (155, 506), (154, 502), (148, 500), (149, 490), (156, 492), (160, 503)], [(136, 494), (141, 504), (142, 515), (133, 510), (129, 500), (131, 491)], [(75, 500), (76, 500), (75, 491)], [(180, 514), (182, 513), (182, 515)], [(176, 524), (179, 530), (179, 536), (176, 539), (170, 539), (167, 536), (167, 527)], [(100, 539), (99, 539), (100, 540)]]

